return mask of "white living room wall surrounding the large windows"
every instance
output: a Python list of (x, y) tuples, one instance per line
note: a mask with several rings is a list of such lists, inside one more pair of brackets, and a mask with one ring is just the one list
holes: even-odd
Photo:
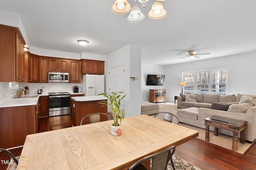
[(228, 69), (228, 94), (256, 95), (255, 56), (256, 52), (253, 52), (164, 66), (166, 100), (174, 102), (174, 96), (180, 95), (181, 87), (178, 84), (182, 81), (182, 72), (216, 69)]

